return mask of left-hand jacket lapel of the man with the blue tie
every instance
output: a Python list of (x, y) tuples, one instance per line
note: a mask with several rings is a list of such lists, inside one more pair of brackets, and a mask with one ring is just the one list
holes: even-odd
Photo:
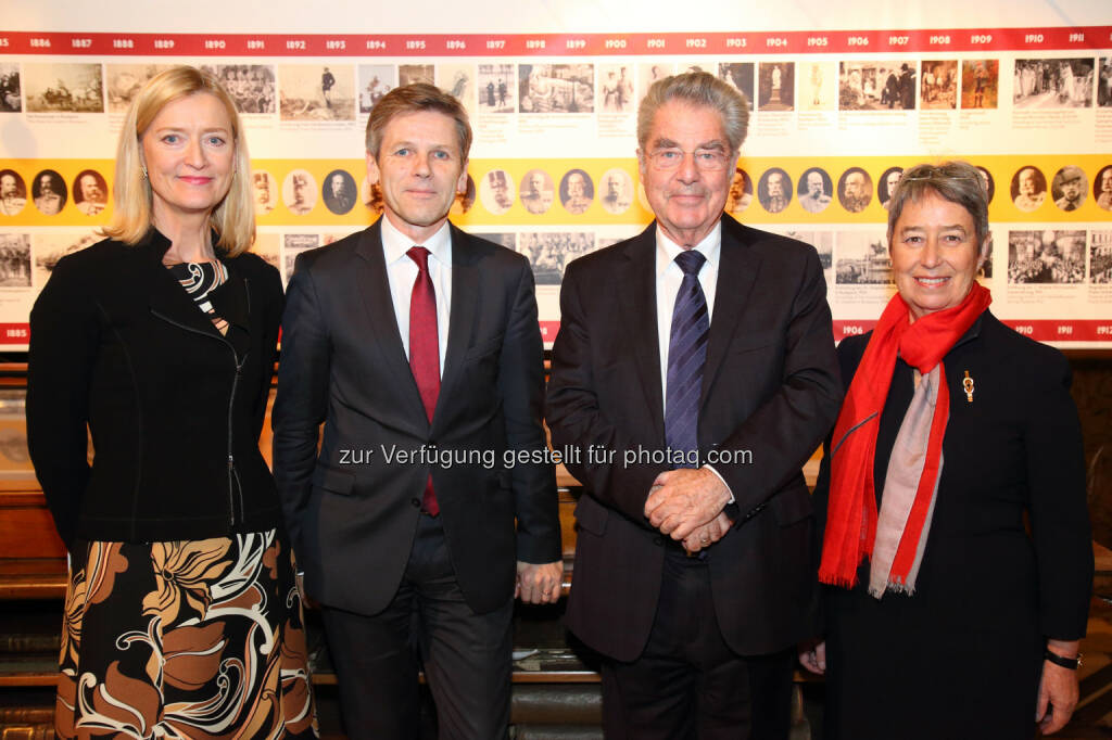
[(664, 439), (664, 397), (661, 390), (661, 348), (656, 318), (655, 222), (625, 247), (625, 262), (617, 278), (622, 298), (622, 327), (629, 333), (637, 377), (653, 428)]

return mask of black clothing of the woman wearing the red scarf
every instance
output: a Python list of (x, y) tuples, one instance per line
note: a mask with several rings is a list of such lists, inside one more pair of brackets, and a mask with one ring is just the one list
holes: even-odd
[[(838, 347), (846, 387), (870, 337)], [(1046, 638), (1085, 633), (1093, 554), (1065, 358), (985, 311), (943, 364), (950, 420), (914, 596), (870, 597), (867, 563), (852, 591), (825, 590), (826, 737), (1032, 737)], [(913, 390), (897, 361), (876, 440), (878, 488)], [(823, 522), (828, 492), (827, 456), (815, 488)]]

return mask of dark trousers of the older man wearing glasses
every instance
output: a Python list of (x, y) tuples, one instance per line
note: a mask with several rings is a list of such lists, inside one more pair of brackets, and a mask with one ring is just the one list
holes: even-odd
[(733, 652), (714, 614), (706, 562), (669, 551), (645, 651), (629, 663), (603, 663), (606, 738), (786, 740), (794, 654)]

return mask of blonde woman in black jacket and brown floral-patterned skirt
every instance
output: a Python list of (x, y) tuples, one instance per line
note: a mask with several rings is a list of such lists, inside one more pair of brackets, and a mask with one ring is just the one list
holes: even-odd
[(28, 442), (71, 560), (57, 733), (314, 737), (258, 450), (281, 281), (247, 251), (247, 147), (215, 78), (176, 67), (136, 96), (115, 197), (108, 239), (31, 312)]

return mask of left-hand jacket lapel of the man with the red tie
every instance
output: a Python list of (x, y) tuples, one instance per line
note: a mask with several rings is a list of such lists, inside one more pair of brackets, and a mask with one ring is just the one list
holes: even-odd
[(380, 221), (375, 222), (363, 232), (355, 250), (359, 258), (355, 267), (355, 287), (363, 299), (364, 319), (368, 326), (367, 336), (373, 339), (381, 358), (381, 362), (371, 363), (378, 366), (380, 370), (375, 373), (376, 378), (388, 378), (395, 386), (401, 403), (406, 407), (405, 417), (419, 420), (420, 427), (427, 430), (429, 422), (425, 404), (420, 400), (417, 381), (414, 380), (413, 371), (409, 369), (401, 334), (398, 333), (398, 321), (394, 316), (381, 233)]

